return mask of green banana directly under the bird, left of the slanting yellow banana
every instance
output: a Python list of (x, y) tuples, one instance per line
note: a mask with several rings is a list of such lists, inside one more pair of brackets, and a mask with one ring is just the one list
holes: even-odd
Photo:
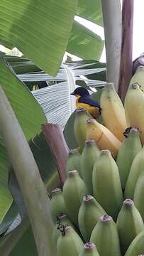
[(86, 122), (90, 117), (91, 115), (88, 114), (87, 110), (84, 108), (79, 107), (79, 109), (76, 110), (74, 119), (74, 135), (81, 149), (84, 148), (84, 143), (86, 141)]

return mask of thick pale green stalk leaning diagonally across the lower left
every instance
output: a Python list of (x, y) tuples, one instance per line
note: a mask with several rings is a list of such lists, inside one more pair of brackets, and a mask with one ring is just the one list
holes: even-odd
[(26, 137), (0, 86), (0, 132), (28, 210), (39, 256), (55, 256), (49, 199)]

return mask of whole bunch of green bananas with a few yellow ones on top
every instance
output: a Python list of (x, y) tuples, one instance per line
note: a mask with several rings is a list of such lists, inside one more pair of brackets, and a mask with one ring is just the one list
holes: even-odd
[(139, 68), (132, 78), (124, 107), (113, 84), (106, 84), (103, 124), (83, 108), (76, 111), (79, 149), (70, 150), (67, 179), (50, 201), (57, 256), (144, 255), (142, 73)]

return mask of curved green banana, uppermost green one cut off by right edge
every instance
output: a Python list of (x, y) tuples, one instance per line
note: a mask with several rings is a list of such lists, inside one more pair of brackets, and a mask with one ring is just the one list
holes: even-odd
[(135, 156), (133, 163), (131, 165), (130, 173), (128, 175), (128, 180), (126, 182), (125, 198), (133, 199), (133, 193), (135, 191), (135, 185), (138, 181), (138, 177), (144, 171), (144, 146)]

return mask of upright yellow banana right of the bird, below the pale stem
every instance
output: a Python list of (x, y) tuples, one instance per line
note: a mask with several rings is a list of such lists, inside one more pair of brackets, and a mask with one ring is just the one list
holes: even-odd
[(119, 141), (123, 142), (125, 139), (123, 132), (127, 127), (125, 110), (113, 83), (105, 85), (104, 90), (101, 92), (100, 105), (104, 125)]

